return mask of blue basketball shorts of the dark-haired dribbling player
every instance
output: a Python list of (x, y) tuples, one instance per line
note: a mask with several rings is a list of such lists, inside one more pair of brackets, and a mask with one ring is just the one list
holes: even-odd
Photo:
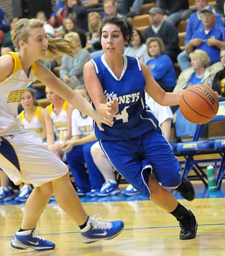
[(179, 161), (160, 128), (134, 139), (100, 140), (100, 145), (118, 173), (142, 195), (150, 197), (151, 172), (168, 189), (175, 189), (181, 182)]

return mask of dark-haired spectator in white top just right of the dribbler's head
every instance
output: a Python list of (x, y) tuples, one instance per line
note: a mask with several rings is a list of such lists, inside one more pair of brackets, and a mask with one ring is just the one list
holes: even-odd
[(140, 30), (133, 30), (134, 39), (131, 41), (130, 46), (124, 48), (124, 54), (130, 57), (137, 57), (143, 62), (148, 61), (149, 56), (147, 54), (145, 40)]

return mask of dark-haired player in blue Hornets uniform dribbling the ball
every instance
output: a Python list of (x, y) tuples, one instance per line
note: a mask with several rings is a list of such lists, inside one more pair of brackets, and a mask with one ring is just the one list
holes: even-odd
[(100, 32), (104, 54), (85, 64), (85, 85), (98, 113), (114, 117), (114, 124), (103, 124), (104, 130), (95, 124), (96, 137), (114, 168), (179, 221), (180, 239), (193, 239), (197, 233), (195, 216), (167, 189), (178, 190), (187, 200), (193, 200), (195, 191), (180, 176), (177, 158), (145, 105), (145, 91), (163, 106), (178, 105), (181, 95), (164, 92), (143, 62), (122, 54), (132, 39), (129, 23), (106, 17)]

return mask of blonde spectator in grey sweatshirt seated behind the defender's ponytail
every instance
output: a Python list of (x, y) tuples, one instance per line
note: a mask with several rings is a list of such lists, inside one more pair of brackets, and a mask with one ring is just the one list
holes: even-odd
[(80, 43), (79, 34), (70, 32), (65, 35), (65, 39), (74, 43), (77, 46), (77, 51), (74, 57), (67, 55), (62, 56), (61, 69), (59, 70), (59, 77), (69, 85), (70, 88), (75, 88), (83, 82), (83, 66), (90, 60), (90, 54), (87, 49), (83, 49)]

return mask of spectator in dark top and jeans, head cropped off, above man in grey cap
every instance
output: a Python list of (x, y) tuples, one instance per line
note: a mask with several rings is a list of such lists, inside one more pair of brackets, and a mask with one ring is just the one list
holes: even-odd
[(182, 20), (182, 14), (189, 9), (188, 0), (160, 0), (159, 7), (163, 11), (164, 20), (177, 25)]

